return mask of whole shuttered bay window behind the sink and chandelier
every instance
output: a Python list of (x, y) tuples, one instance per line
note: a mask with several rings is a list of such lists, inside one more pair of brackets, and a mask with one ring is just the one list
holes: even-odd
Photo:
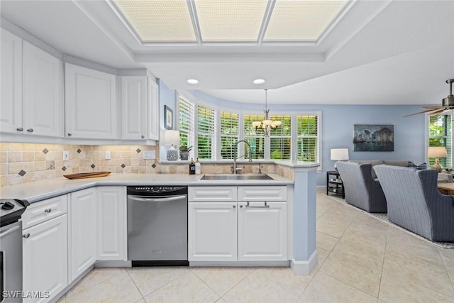
[(180, 145), (193, 145), (191, 158), (201, 160), (231, 160), (248, 155), (250, 144), (255, 160), (301, 160), (321, 162), (321, 112), (277, 113), (272, 120), (282, 121), (265, 137), (262, 129), (255, 129), (253, 121), (262, 121), (263, 114), (241, 113), (219, 109), (203, 101), (189, 101), (179, 97)]

